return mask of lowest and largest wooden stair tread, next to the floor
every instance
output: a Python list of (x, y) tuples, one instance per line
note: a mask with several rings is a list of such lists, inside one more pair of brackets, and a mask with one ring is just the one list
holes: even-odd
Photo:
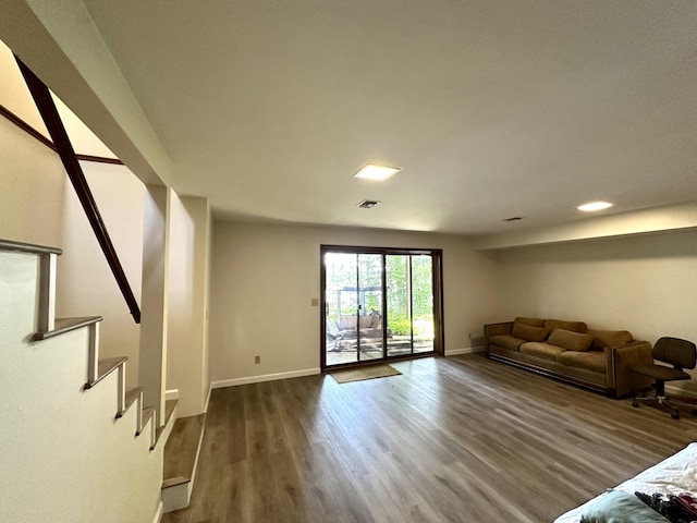
[(181, 417), (174, 422), (164, 446), (162, 488), (191, 482), (206, 423), (206, 414)]

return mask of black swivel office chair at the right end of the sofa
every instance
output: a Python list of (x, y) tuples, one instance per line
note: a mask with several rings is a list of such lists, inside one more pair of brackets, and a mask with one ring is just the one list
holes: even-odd
[(671, 411), (671, 417), (674, 419), (680, 418), (677, 405), (690, 408), (694, 414), (696, 412), (695, 405), (665, 398), (665, 381), (690, 379), (692, 376), (683, 370), (683, 368), (695, 368), (695, 364), (697, 363), (697, 348), (695, 343), (681, 340), (680, 338), (660, 338), (653, 345), (652, 355), (653, 360), (669, 363), (673, 366), (668, 367), (665, 365), (649, 363), (635, 363), (634, 365), (629, 365), (629, 370), (656, 379), (656, 394), (634, 398), (632, 405), (639, 406), (639, 402), (656, 402), (659, 405), (668, 408)]

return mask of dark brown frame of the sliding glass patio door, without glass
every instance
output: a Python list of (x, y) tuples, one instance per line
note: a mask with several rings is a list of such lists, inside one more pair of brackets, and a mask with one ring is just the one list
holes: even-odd
[[(371, 358), (367, 361), (356, 361), (343, 364), (335, 364), (327, 366), (327, 267), (325, 266), (325, 257), (327, 253), (343, 253), (343, 254), (380, 254), (382, 255), (382, 357)], [(393, 355), (388, 356), (388, 343), (387, 343), (387, 308), (388, 308), (388, 295), (387, 295), (387, 273), (386, 273), (386, 257), (389, 255), (409, 255), (430, 256), (432, 260), (431, 268), (431, 284), (433, 292), (433, 351), (424, 353), (414, 353), (414, 345), (412, 343), (412, 354)], [(409, 258), (411, 259), (411, 258)], [(322, 372), (328, 369), (355, 367), (360, 365), (370, 365), (375, 363), (386, 363), (398, 360), (414, 360), (417, 357), (426, 357), (432, 355), (444, 355), (445, 341), (444, 341), (444, 328), (443, 328), (443, 251), (440, 248), (403, 248), (403, 247), (374, 247), (374, 246), (356, 246), (356, 245), (320, 245), (320, 368)], [(413, 296), (409, 296), (413, 301)], [(412, 339), (414, 333), (412, 332)]]

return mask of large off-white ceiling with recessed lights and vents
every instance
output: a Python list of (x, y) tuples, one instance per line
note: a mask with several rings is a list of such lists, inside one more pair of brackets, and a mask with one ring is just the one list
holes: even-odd
[(697, 199), (694, 0), (82, 3), (218, 217), (484, 234)]

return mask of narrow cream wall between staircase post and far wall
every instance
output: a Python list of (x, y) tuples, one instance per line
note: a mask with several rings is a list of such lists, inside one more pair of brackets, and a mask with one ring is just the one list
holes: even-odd
[(179, 390), (179, 415), (185, 417), (204, 412), (209, 388), (208, 200), (172, 194), (170, 227), (167, 389)]

